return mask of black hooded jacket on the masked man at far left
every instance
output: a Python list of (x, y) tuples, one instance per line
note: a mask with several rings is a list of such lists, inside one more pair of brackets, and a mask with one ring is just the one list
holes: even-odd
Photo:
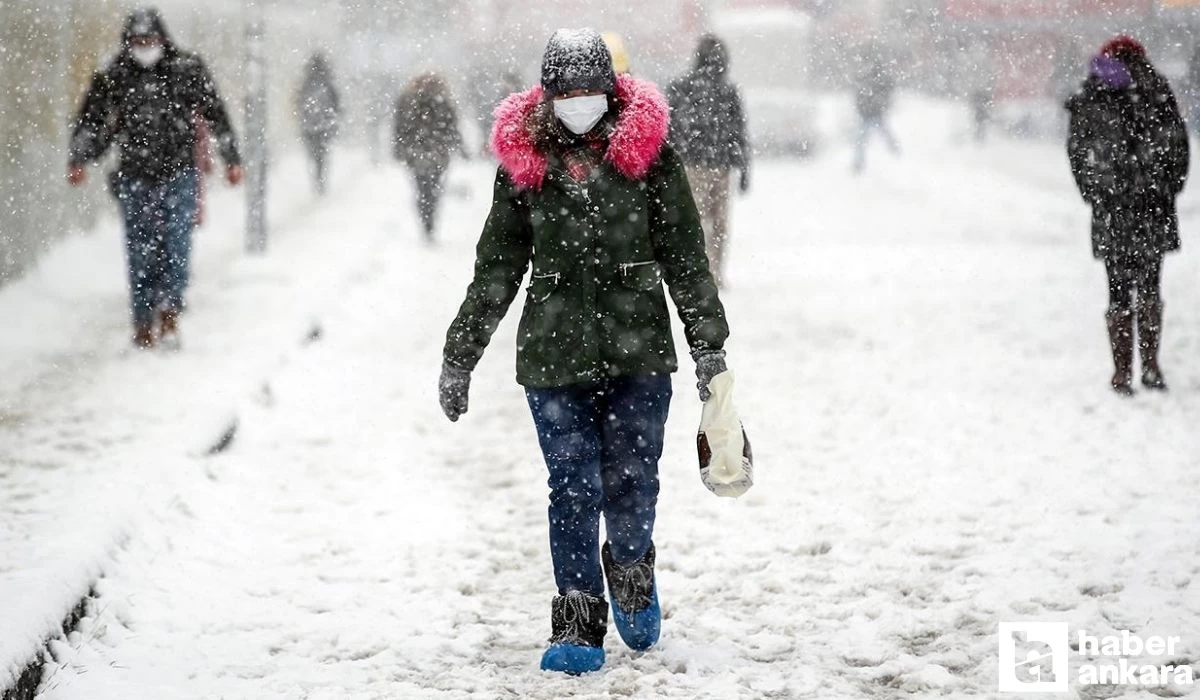
[(180, 50), (162, 18), (145, 11), (162, 37), (163, 58), (143, 67), (130, 50), (131, 14), (121, 35), (121, 50), (92, 76), (71, 138), (73, 166), (100, 160), (116, 144), (118, 177), (164, 183), (196, 168), (196, 134), (204, 121), (229, 166), (240, 164), (229, 115), (204, 61)]

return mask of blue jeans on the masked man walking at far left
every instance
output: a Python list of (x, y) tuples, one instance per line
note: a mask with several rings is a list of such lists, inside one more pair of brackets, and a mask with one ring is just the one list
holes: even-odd
[(121, 178), (115, 181), (125, 217), (130, 306), (136, 324), (149, 325), (158, 309), (184, 309), (198, 185), (196, 170), (162, 184)]

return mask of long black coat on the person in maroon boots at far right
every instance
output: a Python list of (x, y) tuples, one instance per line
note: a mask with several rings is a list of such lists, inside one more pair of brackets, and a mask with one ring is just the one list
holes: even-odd
[(1145, 60), (1130, 73), (1126, 89), (1091, 77), (1067, 102), (1067, 155), (1093, 208), (1098, 258), (1162, 257), (1180, 247), (1175, 199), (1188, 175), (1187, 128), (1165, 78)]

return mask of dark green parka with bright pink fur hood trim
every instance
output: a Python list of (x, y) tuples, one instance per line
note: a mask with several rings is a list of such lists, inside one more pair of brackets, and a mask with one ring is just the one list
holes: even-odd
[(541, 103), (534, 88), (497, 109), (492, 211), (445, 361), (474, 370), (530, 263), (517, 333), (517, 382), (526, 387), (676, 371), (664, 282), (692, 352), (721, 349), (725, 310), (683, 163), (666, 145), (662, 95), (618, 78), (604, 162), (582, 181), (536, 145)]

